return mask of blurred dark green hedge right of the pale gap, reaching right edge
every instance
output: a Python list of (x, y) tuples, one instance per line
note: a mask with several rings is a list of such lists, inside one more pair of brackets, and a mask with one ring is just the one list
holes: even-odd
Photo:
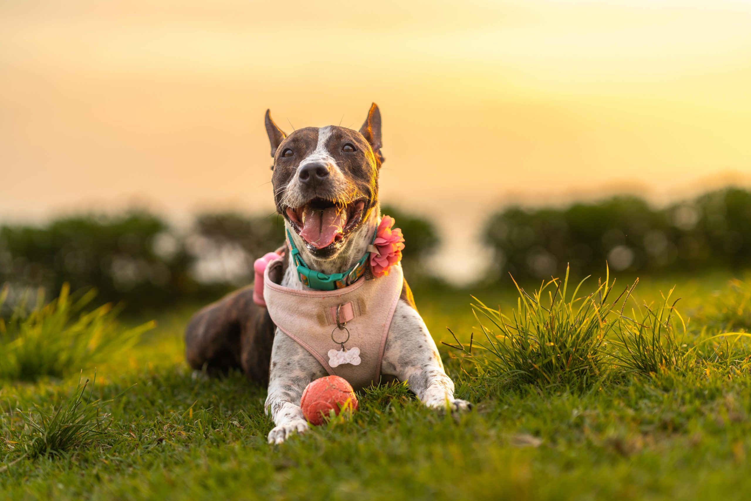
[(490, 278), (550, 278), (611, 270), (682, 271), (751, 267), (751, 192), (722, 189), (664, 208), (619, 196), (562, 209), (510, 207), (491, 216), (484, 241)]

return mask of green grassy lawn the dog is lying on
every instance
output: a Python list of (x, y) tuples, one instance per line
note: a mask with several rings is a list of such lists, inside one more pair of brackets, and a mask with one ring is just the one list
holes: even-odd
[[(680, 361), (656, 373), (618, 367), (615, 337), (599, 348), (594, 382), (581, 386), (520, 382), (441, 345), (457, 397), (477, 404), (469, 414), (424, 409), (403, 385), (374, 388), (360, 393), (350, 420), (333, 419), (279, 446), (266, 443), (273, 425), (263, 412), (265, 388), (240, 374), (192, 376), (182, 357), (192, 309), (165, 313), (140, 343), (97, 364), (92, 399), (125, 393), (96, 404), (101, 423), (67, 450), (24, 457), (39, 434), (29, 420), (40, 418), (17, 409), (38, 406), (49, 415), (74, 394), (79, 374), (0, 382), (0, 465), (8, 466), (0, 496), (748, 499), (751, 343), (713, 338), (751, 327), (749, 289), (728, 288), (729, 278), (641, 280), (628, 309), (677, 283), (683, 320), (692, 317), (670, 345)], [(448, 326), (465, 346), (471, 333), (482, 341), (468, 292), (415, 293), (436, 340), (456, 343)], [(505, 312), (517, 305), (510, 280), (475, 295)], [(93, 367), (83, 370), (84, 379), (93, 375)]]

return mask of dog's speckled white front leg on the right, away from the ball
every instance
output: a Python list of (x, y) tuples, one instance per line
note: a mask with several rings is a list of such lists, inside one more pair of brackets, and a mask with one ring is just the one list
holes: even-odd
[(454, 398), (454, 382), (420, 314), (403, 300), (397, 304), (386, 341), (382, 373), (406, 381), (409, 389), (429, 407), (463, 411), (472, 404)]

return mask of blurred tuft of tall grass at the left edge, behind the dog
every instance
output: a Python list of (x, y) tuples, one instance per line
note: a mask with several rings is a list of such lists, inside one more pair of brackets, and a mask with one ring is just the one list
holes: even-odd
[[(71, 297), (63, 285), (59, 297), (37, 303), (29, 311), (21, 300), (10, 318), (0, 318), (0, 378), (36, 381), (43, 376), (62, 377), (89, 367), (137, 343), (153, 322), (123, 329), (116, 321), (121, 308), (111, 304), (85, 311), (95, 291)], [(8, 288), (0, 291), (0, 308)]]

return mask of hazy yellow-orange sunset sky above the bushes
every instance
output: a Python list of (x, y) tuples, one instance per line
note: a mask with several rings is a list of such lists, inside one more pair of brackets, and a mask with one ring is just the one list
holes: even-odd
[(0, 0), (0, 219), (270, 212), (264, 111), (375, 101), (382, 199), (469, 277), (502, 204), (751, 183), (749, 89), (751, 2)]

